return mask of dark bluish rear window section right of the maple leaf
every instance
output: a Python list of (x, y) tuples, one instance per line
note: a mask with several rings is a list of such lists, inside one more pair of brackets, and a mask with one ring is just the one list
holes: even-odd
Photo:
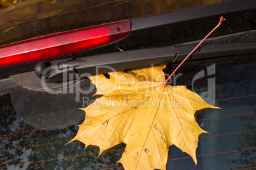
[[(199, 126), (208, 131), (199, 137), (197, 148), (198, 167), (188, 154), (182, 153), (176, 147), (169, 151), (170, 169), (241, 169), (255, 166), (255, 110), (256, 84), (255, 55), (245, 58), (227, 57), (216, 58), (201, 62), (191, 62), (183, 65), (183, 74), (177, 80), (178, 84), (185, 84), (194, 89), (199, 95), (209, 95), (209, 79), (216, 79), (215, 103), (222, 110), (205, 110), (197, 115)], [(195, 74), (215, 63), (216, 74), (197, 79)], [(175, 68), (175, 66), (174, 66)], [(194, 71), (192, 71), (194, 70)], [(195, 86), (196, 84), (196, 86)]]

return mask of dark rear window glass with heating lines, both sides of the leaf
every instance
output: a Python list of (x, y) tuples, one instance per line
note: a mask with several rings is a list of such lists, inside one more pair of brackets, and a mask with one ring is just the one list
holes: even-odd
[[(177, 65), (170, 65), (170, 71)], [(222, 109), (196, 115), (209, 134), (199, 137), (198, 164), (172, 146), (167, 169), (253, 169), (255, 167), (256, 55), (229, 56), (185, 62), (171, 79), (185, 85)], [(0, 85), (4, 81), (0, 82)], [(90, 81), (80, 82), (88, 89)], [(86, 107), (80, 93), (51, 95), (45, 91), (6, 83), (0, 90), (0, 169), (123, 169), (117, 164), (125, 144), (98, 156), (99, 149), (75, 137)]]

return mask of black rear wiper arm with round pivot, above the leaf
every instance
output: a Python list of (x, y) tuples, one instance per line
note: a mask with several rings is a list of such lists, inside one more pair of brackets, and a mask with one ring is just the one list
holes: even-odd
[[(44, 79), (47, 83), (62, 82), (64, 74), (74, 74), (71, 77), (81, 79), (88, 75), (181, 62), (195, 47), (196, 44), (166, 46), (85, 56), (69, 60), (39, 62), (35, 67), (35, 72), (39, 78)], [(188, 60), (248, 53), (256, 53), (256, 42), (207, 43), (199, 46)], [(80, 75), (80, 77), (76, 75)], [(66, 81), (69, 81), (69, 77), (66, 78)]]

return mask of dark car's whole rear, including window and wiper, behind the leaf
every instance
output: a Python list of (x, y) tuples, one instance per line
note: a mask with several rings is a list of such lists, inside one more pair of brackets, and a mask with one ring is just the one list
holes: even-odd
[[(99, 65), (124, 70), (152, 64), (167, 64), (170, 73), (224, 16), (225, 22), (170, 82), (187, 86), (222, 110), (196, 114), (199, 126), (209, 133), (199, 137), (198, 165), (172, 146), (167, 169), (253, 169), (256, 1), (210, 3), (27, 0), (0, 11), (0, 45), (129, 20), (131, 32), (118, 41), (42, 61), (85, 61), (74, 66), (74, 74), (96, 74)], [(80, 142), (67, 144), (85, 117), (78, 108), (95, 100), (94, 85), (85, 77), (60, 82), (57, 72), (47, 77), (45, 91), (34, 72), (39, 62), (0, 67), (0, 169), (123, 169), (116, 163), (125, 144), (100, 157), (97, 147), (84, 150)]]

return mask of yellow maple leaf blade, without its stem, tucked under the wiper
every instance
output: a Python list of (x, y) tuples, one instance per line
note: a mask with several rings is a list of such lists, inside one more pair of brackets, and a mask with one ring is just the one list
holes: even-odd
[(125, 169), (166, 169), (168, 150), (176, 145), (197, 164), (199, 134), (206, 133), (194, 117), (208, 105), (185, 86), (166, 84), (166, 65), (90, 77), (97, 98), (73, 140), (99, 146), (99, 155), (124, 142)]

